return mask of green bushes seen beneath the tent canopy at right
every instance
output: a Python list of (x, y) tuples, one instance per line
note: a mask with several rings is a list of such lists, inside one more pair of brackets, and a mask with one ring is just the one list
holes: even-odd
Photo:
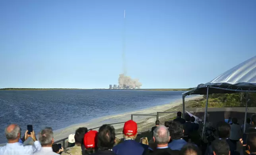
[[(256, 93), (248, 93), (248, 107), (256, 107)], [(225, 108), (225, 107), (245, 107), (246, 93), (235, 94), (213, 94), (209, 95), (209, 108)], [(206, 95), (200, 100), (196, 100), (187, 108), (201, 108), (206, 106)]]

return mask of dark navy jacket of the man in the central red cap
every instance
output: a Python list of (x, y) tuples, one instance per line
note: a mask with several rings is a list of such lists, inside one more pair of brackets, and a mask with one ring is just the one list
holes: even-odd
[(135, 140), (124, 140), (124, 142), (113, 147), (116, 155), (144, 155), (148, 146), (138, 143)]

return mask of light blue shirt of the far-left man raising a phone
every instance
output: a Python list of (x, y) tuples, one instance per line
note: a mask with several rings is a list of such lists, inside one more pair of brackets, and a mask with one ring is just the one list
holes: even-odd
[(7, 143), (6, 146), (0, 147), (0, 155), (32, 155), (40, 151), (40, 149), (41, 144), (39, 141), (35, 141), (33, 146), (23, 146), (19, 142)]

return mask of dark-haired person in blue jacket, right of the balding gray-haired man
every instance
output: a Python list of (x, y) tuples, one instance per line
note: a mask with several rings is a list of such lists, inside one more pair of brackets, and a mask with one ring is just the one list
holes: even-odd
[(188, 143), (183, 139), (183, 125), (174, 121), (169, 126), (169, 131), (172, 142), (168, 144), (168, 147), (172, 150), (181, 150)]

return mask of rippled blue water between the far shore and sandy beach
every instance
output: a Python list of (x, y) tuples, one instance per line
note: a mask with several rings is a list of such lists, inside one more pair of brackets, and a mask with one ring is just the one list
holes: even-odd
[(46, 126), (62, 129), (92, 118), (167, 104), (182, 98), (182, 91), (57, 90), (0, 91), (0, 143), (5, 127), (17, 123), (22, 134), (27, 124), (35, 132)]

